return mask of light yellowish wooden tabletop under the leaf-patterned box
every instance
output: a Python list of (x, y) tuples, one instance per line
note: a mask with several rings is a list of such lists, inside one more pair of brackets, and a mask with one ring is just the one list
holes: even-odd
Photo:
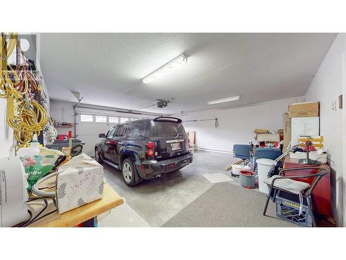
[(120, 198), (118, 193), (106, 183), (104, 184), (103, 198), (101, 200), (95, 200), (76, 209), (67, 211), (61, 214), (60, 218), (39, 225), (38, 227), (76, 227), (80, 225), (80, 223), (93, 220), (96, 216), (122, 205), (123, 202), (124, 201)]

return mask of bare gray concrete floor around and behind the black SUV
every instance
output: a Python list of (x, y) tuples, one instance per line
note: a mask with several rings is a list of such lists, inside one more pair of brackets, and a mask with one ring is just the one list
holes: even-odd
[[(160, 227), (193, 200), (212, 187), (203, 174), (225, 173), (226, 166), (237, 159), (226, 153), (199, 150), (194, 153), (194, 162), (179, 171), (162, 177), (140, 182), (136, 187), (127, 187), (120, 171), (104, 164), (107, 182), (125, 198), (125, 205), (111, 211), (100, 220), (100, 227)], [(230, 182), (239, 185), (238, 178)]]

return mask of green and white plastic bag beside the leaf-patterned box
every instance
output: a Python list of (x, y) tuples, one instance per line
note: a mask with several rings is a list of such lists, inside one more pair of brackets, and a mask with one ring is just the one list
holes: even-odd
[(33, 155), (19, 157), (24, 165), (25, 172), (28, 174), (28, 191), (31, 190), (33, 184), (40, 178), (44, 177), (51, 171), (57, 161), (58, 156), (55, 155)]

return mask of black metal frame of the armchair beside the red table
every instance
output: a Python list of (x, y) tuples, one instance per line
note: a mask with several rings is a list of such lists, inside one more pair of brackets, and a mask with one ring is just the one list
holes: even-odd
[[(311, 169), (316, 169), (318, 170), (318, 173), (314, 173), (311, 175), (299, 175), (299, 176), (284, 176), (284, 173), (286, 171), (300, 171), (300, 170), (311, 170)], [(323, 168), (323, 167), (299, 167), (299, 168), (286, 168), (286, 169), (282, 169), (279, 173), (279, 175), (277, 175), (277, 177), (274, 177), (271, 185), (268, 184), (268, 187), (270, 187), (270, 191), (268, 193), (268, 198), (266, 200), (266, 205), (264, 206), (264, 210), (263, 210), (263, 215), (266, 216), (266, 209), (268, 208), (268, 202), (270, 199), (273, 200), (273, 202), (275, 202), (275, 198), (277, 196), (277, 193), (289, 193), (293, 196), (297, 196), (297, 194), (295, 193), (291, 193), (289, 191), (287, 191), (286, 189), (280, 189), (275, 187), (275, 181), (276, 180), (280, 180), (280, 179), (306, 179), (306, 178), (313, 178), (313, 182), (310, 185), (310, 188), (305, 190), (304, 193), (302, 193), (302, 198), (303, 201), (305, 200), (307, 202), (307, 206), (309, 207), (309, 210), (311, 211), (311, 218), (312, 218), (312, 223), (313, 223), (313, 227), (316, 227), (316, 218), (313, 214), (313, 207), (312, 205), (314, 204), (314, 201), (312, 200), (313, 196), (312, 196), (312, 192), (313, 189), (315, 189), (316, 185), (318, 184), (318, 182), (320, 181), (321, 177), (323, 175), (326, 175), (328, 173), (327, 168)], [(314, 205), (314, 209), (316, 211), (316, 214), (318, 214), (316, 206)]]

